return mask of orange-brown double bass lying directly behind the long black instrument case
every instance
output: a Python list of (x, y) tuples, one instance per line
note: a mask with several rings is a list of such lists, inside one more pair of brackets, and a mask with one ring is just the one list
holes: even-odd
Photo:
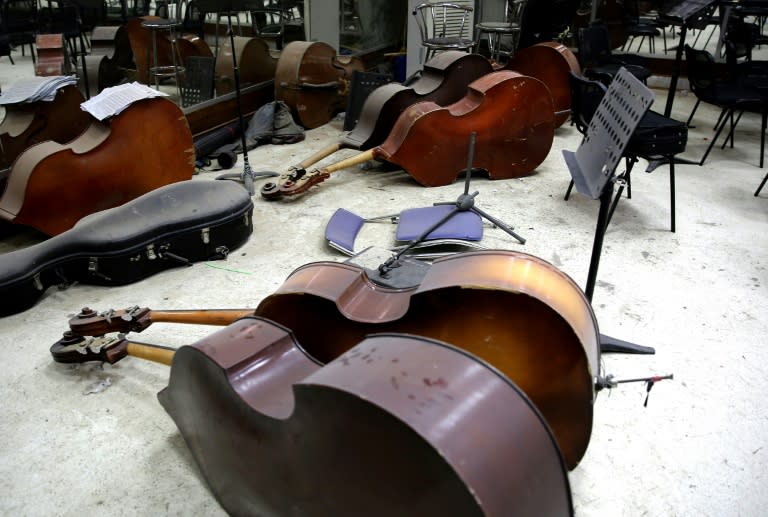
[(0, 197), (0, 218), (56, 235), (88, 214), (190, 179), (194, 161), (181, 110), (166, 99), (142, 100), (108, 123), (92, 119), (66, 144), (25, 150)]

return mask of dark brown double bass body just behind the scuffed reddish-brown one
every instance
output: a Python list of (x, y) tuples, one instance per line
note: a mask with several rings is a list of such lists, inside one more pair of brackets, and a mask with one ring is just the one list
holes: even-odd
[(342, 146), (361, 151), (377, 146), (386, 140), (408, 106), (422, 101), (452, 104), (466, 95), (473, 81), (492, 71), (490, 62), (478, 54), (442, 52), (424, 65), (421, 77), (412, 85), (385, 84), (371, 92), (357, 125), (342, 139)]

